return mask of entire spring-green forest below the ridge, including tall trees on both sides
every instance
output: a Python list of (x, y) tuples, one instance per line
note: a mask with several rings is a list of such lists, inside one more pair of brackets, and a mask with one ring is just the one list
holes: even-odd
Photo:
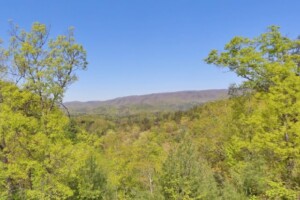
[[(0, 199), (300, 199), (300, 40), (275, 26), (207, 63), (244, 78), (188, 111), (71, 115), (73, 31), (12, 25), (0, 49)], [(200, 58), (199, 58), (200, 59)]]

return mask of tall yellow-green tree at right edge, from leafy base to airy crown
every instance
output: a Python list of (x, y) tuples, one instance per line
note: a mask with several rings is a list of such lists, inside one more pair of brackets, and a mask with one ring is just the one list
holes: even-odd
[[(208, 63), (228, 67), (245, 78), (242, 87), (250, 91), (250, 95), (235, 99), (235, 134), (227, 146), (227, 161), (237, 171), (245, 162), (264, 161), (263, 168), (268, 171), (264, 184), (268, 186), (263, 191), (257, 187), (255, 195), (299, 197), (299, 44), (298, 39), (284, 37), (278, 27), (271, 26), (254, 39), (235, 37), (225, 52), (213, 50), (206, 58)], [(258, 179), (249, 180), (245, 183), (253, 189)]]

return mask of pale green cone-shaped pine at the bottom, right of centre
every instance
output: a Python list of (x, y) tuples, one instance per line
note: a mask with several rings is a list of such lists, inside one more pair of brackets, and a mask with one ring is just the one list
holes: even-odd
[(218, 193), (210, 167), (189, 140), (170, 152), (163, 164), (161, 187), (166, 199), (217, 199)]

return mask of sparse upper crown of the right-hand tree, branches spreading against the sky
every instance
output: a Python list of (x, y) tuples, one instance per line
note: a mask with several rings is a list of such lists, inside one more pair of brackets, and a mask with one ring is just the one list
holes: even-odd
[[(300, 75), (300, 40), (292, 40), (271, 26), (266, 33), (250, 39), (234, 37), (225, 45), (225, 51), (212, 50), (205, 61), (228, 67), (246, 79), (244, 86), (257, 91), (268, 91), (274, 85), (274, 68), (285, 68)], [(282, 78), (285, 74), (282, 74)]]

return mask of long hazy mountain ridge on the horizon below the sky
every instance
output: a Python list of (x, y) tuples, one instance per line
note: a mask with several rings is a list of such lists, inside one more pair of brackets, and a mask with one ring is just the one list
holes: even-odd
[(131, 115), (141, 112), (187, 110), (206, 102), (228, 97), (228, 90), (167, 92), (119, 97), (107, 101), (66, 102), (71, 114)]

